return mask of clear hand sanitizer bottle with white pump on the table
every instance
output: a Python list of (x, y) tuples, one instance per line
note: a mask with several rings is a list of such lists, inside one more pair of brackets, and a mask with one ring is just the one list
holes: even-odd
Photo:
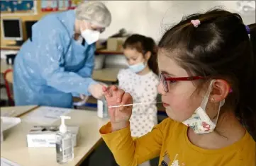
[(65, 125), (65, 119), (70, 119), (70, 117), (60, 116), (61, 125), (60, 131), (56, 134), (56, 158), (57, 163), (65, 164), (74, 158), (74, 148), (72, 143), (72, 134), (67, 131), (67, 126)]

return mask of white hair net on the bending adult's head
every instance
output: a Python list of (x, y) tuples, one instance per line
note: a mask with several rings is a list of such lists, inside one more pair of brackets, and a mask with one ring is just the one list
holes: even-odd
[(111, 13), (100, 1), (85, 1), (79, 4), (76, 8), (76, 18), (104, 28), (111, 23)]

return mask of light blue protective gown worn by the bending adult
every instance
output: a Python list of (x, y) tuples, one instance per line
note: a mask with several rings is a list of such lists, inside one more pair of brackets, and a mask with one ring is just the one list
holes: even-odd
[(16, 105), (72, 107), (72, 96), (91, 95), (95, 43), (74, 40), (74, 11), (52, 13), (32, 28), (13, 68)]

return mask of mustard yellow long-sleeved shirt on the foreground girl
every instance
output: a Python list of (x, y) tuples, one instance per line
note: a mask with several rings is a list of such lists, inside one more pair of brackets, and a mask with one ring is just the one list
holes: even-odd
[(100, 133), (120, 166), (138, 164), (160, 156), (160, 166), (255, 166), (255, 141), (246, 132), (240, 141), (217, 150), (194, 146), (187, 138), (188, 127), (165, 119), (145, 136), (130, 136), (130, 127), (111, 132), (111, 123)]

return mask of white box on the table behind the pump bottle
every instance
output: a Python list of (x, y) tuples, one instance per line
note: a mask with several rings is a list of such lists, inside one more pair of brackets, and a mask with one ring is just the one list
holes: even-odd
[[(79, 126), (67, 126), (72, 133), (74, 146), (79, 141)], [(27, 134), (28, 147), (55, 147), (55, 136), (59, 126), (33, 126)]]

